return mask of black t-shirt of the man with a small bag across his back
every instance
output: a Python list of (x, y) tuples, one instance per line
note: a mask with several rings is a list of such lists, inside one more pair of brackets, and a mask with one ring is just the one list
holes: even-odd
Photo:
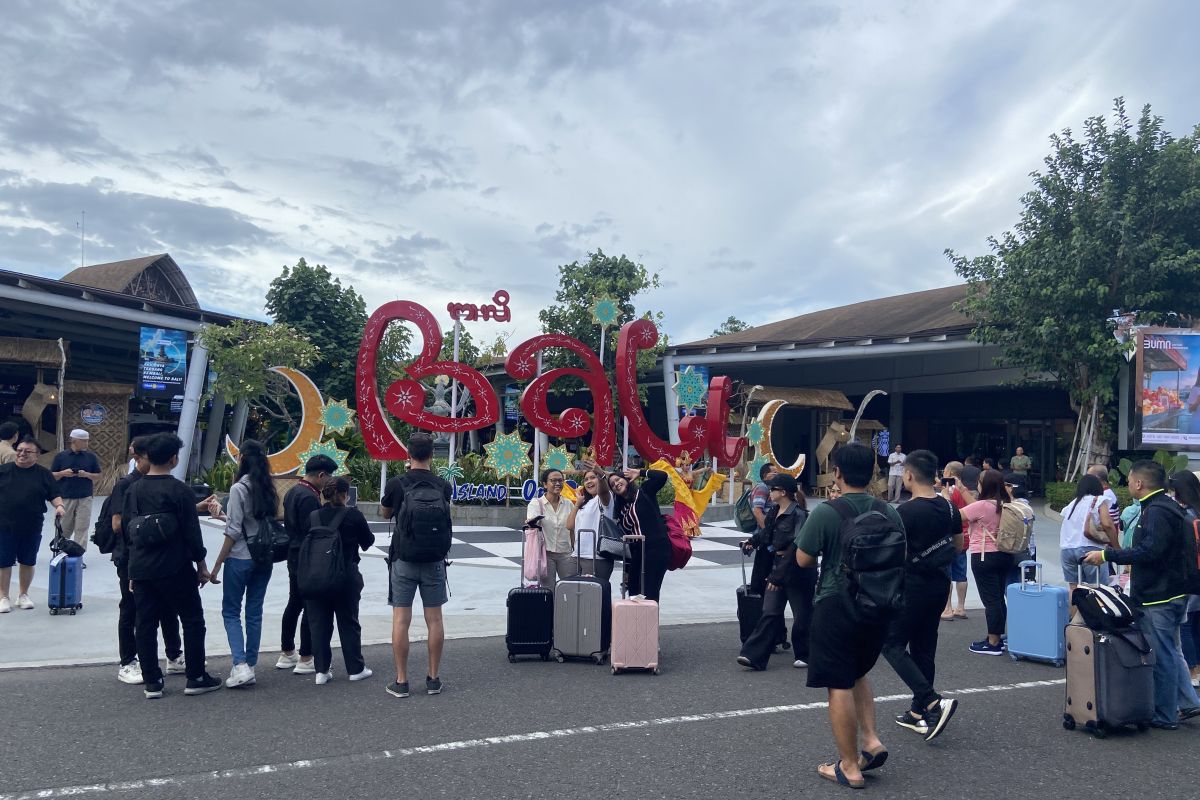
[[(134, 504), (137, 513), (133, 512)], [(130, 578), (133, 581), (178, 575), (206, 553), (200, 518), (196, 513), (196, 493), (186, 483), (170, 475), (146, 475), (127, 487), (121, 505), (121, 529), (127, 531), (134, 517), (152, 513), (173, 516), (175, 534), (158, 547), (130, 547)]]

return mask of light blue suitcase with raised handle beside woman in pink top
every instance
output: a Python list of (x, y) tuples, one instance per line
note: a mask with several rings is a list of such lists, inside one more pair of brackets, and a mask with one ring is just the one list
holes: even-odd
[[(1030, 578), (1032, 567), (1033, 577)], [(1042, 565), (1021, 561), (1020, 583), (1008, 584), (1008, 655), (1013, 661), (1031, 658), (1061, 667), (1067, 661), (1066, 587), (1042, 582)]]

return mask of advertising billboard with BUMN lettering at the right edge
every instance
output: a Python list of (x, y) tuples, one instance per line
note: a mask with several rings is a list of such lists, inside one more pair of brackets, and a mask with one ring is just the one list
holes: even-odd
[(1138, 331), (1134, 429), (1139, 446), (1200, 451), (1200, 331)]

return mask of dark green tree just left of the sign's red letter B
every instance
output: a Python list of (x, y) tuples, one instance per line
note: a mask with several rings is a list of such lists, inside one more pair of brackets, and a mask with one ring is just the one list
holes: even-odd
[(320, 348), (308, 377), (322, 392), (354, 404), (354, 369), (367, 321), (366, 303), (354, 287), (343, 287), (328, 267), (301, 258), (271, 281), (266, 311)]

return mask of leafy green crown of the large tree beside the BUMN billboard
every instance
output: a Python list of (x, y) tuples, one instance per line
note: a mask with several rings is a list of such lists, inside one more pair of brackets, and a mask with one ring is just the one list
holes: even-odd
[(1050, 373), (1076, 405), (1106, 403), (1123, 362), (1114, 311), (1178, 324), (1200, 308), (1200, 127), (1175, 139), (1118, 98), (1111, 126), (1093, 116), (1081, 139), (1068, 128), (1050, 143), (1014, 229), (988, 255), (947, 255), (976, 339), (1027, 379)]

